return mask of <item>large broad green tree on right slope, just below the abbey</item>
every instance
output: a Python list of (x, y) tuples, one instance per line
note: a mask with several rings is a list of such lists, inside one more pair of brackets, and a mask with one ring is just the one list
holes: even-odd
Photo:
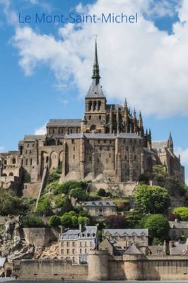
[(138, 185), (136, 205), (143, 213), (165, 213), (170, 207), (168, 190), (158, 186)]

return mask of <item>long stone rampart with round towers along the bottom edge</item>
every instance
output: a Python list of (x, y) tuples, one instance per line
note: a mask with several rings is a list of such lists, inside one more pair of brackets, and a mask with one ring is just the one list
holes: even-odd
[(107, 250), (91, 250), (88, 265), (65, 260), (21, 260), (25, 279), (188, 280), (188, 256), (111, 256)]

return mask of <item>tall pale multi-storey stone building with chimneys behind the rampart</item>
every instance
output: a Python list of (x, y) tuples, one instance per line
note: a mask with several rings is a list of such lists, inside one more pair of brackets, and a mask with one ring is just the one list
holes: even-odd
[(97, 245), (97, 226), (79, 226), (59, 235), (59, 258), (77, 264), (88, 262), (88, 252)]

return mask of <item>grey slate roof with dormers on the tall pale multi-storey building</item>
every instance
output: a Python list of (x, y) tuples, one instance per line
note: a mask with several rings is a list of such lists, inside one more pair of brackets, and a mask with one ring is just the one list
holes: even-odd
[(97, 229), (97, 226), (86, 226), (82, 232), (79, 229), (68, 229), (59, 235), (59, 241), (78, 240), (78, 238), (96, 238)]

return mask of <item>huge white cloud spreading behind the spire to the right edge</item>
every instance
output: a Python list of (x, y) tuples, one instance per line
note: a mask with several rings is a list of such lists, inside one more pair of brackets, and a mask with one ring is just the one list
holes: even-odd
[[(78, 11), (88, 14), (137, 12), (139, 23), (86, 23), (79, 29), (68, 24), (59, 28), (60, 39), (30, 27), (16, 27), (13, 45), (20, 55), (19, 64), (30, 75), (35, 67), (45, 63), (57, 83), (69, 85), (71, 81), (85, 96), (93, 65), (93, 35), (97, 33), (101, 83), (107, 98), (119, 102), (126, 96), (132, 107), (146, 115), (188, 115), (188, 4), (184, 0), (182, 6), (174, 8), (180, 23), (175, 23), (174, 34), (168, 35), (143, 18), (143, 12), (150, 16), (152, 3), (153, 0), (111, 0), (106, 5), (106, 0), (98, 0), (93, 5), (79, 5)], [(151, 8), (151, 13), (158, 16), (172, 11), (166, 0), (160, 8)], [(187, 22), (182, 24), (183, 21)]]

